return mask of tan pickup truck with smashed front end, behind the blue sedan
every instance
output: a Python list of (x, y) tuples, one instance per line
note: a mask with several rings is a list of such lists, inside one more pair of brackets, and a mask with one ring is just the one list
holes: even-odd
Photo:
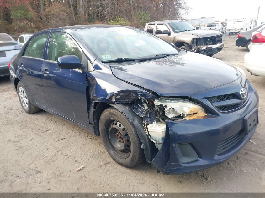
[(197, 30), (186, 21), (154, 21), (146, 23), (144, 30), (181, 49), (207, 56), (213, 56), (224, 47), (219, 31)]

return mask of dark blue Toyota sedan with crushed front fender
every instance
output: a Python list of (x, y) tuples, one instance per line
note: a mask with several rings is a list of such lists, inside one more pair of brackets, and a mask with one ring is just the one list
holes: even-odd
[(25, 112), (44, 109), (101, 136), (125, 167), (197, 171), (235, 155), (258, 125), (245, 73), (138, 28), (81, 25), (34, 34), (10, 61)]

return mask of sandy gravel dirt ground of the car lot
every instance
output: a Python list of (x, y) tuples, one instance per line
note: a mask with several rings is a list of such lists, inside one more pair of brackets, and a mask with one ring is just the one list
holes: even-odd
[(122, 167), (100, 137), (43, 110), (26, 114), (9, 77), (0, 78), (0, 192), (265, 192), (265, 77), (246, 71), (246, 48), (235, 40), (225, 38), (214, 58), (244, 69), (259, 93), (260, 124), (230, 160), (184, 175), (157, 174), (148, 163)]

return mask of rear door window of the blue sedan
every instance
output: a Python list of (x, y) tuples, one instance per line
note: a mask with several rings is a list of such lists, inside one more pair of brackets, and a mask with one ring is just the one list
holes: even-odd
[(47, 34), (33, 38), (27, 46), (24, 56), (43, 58), (43, 51), (46, 39)]

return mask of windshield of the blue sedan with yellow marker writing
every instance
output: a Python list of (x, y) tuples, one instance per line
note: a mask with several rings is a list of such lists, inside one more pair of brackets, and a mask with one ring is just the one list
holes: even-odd
[(76, 32), (94, 55), (104, 62), (119, 58), (128, 60), (179, 53), (174, 46), (138, 28), (91, 28)]

